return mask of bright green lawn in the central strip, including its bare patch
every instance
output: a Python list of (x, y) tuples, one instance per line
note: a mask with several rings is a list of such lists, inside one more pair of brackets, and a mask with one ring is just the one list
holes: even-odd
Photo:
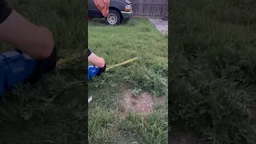
[(107, 66), (138, 58), (89, 82), (90, 143), (167, 143), (168, 39), (146, 19), (89, 22), (89, 48)]

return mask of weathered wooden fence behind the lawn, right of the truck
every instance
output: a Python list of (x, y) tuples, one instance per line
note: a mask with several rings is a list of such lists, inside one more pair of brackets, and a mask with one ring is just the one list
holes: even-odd
[(168, 0), (130, 0), (134, 17), (162, 18), (168, 14)]

